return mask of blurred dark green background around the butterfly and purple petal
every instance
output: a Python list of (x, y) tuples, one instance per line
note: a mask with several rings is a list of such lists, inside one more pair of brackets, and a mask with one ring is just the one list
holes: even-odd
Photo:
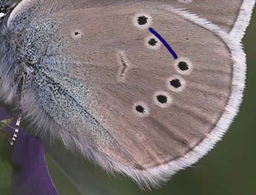
[[(247, 84), (241, 112), (228, 134), (216, 148), (197, 164), (180, 171), (163, 188), (142, 192), (130, 179), (114, 177), (101, 168), (71, 155), (48, 150), (49, 172), (59, 194), (111, 194), (111, 195), (234, 195), (256, 194), (256, 12), (243, 39), (247, 54)], [(0, 194), (11, 182), (13, 171), (6, 159), (0, 139)], [(56, 146), (57, 147), (57, 146)], [(47, 148), (46, 148), (47, 150)], [(60, 160), (62, 159), (62, 160)], [(2, 160), (2, 162), (1, 162)], [(61, 162), (60, 162), (61, 161)], [(5, 194), (3, 194), (5, 195)]]

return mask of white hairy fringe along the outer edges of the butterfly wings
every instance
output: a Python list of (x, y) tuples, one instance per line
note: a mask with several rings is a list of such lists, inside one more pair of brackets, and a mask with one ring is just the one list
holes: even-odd
[[(163, 164), (162, 166), (149, 168), (146, 170), (138, 170), (123, 166), (123, 164), (114, 162), (113, 160), (102, 154), (92, 154), (92, 152), (88, 152), (92, 150), (89, 148), (89, 146), (88, 149), (79, 149), (80, 151), (82, 151), (82, 154), (87, 155), (90, 160), (97, 162), (109, 172), (113, 172), (113, 170), (115, 170), (119, 173), (130, 176), (136, 183), (141, 186), (142, 189), (151, 189), (152, 187), (157, 188), (158, 186), (160, 186), (160, 184), (169, 180), (171, 176), (174, 175), (177, 171), (180, 171), (185, 167), (191, 166), (204, 155), (206, 155), (210, 150), (212, 150), (216, 143), (220, 141), (223, 135), (228, 131), (230, 124), (232, 124), (234, 117), (237, 116), (240, 105), (242, 103), (243, 91), (245, 88), (246, 80), (246, 55), (242, 49), (243, 45), (241, 44), (241, 40), (243, 35), (245, 34), (247, 26), (249, 25), (255, 1), (256, 0), (243, 1), (240, 14), (238, 15), (236, 23), (234, 24), (234, 27), (232, 31), (230, 31), (230, 33), (223, 31), (216, 24), (213, 24), (206, 19), (189, 13), (187, 10), (175, 9), (174, 7), (169, 5), (165, 5), (162, 7), (163, 10), (170, 11), (172, 14), (181, 16), (185, 20), (198, 24), (199, 26), (215, 33), (224, 41), (232, 54), (232, 59), (234, 62), (232, 94), (230, 96), (228, 104), (225, 107), (225, 111), (222, 113), (220, 120), (217, 122), (212, 132), (209, 133), (207, 137), (199, 143), (199, 145), (194, 147), (191, 151), (187, 153), (187, 155), (181, 158), (172, 160), (171, 162)], [(34, 103), (32, 105), (34, 105)], [(25, 106), (24, 108), (27, 107)], [(36, 109), (34, 109), (33, 111), (30, 108), (30, 110), (27, 110), (26, 112), (27, 117), (33, 118), (35, 112)], [(42, 121), (41, 123), (43, 123)], [(52, 126), (52, 128), (54, 128), (54, 126)], [(61, 133), (59, 136), (61, 137)], [(63, 141), (65, 145), (65, 139)]]

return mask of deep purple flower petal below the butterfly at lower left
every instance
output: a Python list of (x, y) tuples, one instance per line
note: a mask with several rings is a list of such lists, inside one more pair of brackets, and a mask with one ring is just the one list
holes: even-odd
[[(0, 120), (4, 118), (10, 118), (10, 116), (0, 108)], [(11, 162), (19, 167), (18, 172), (14, 173), (11, 184), (13, 194), (57, 194), (49, 175), (44, 146), (40, 138), (33, 137), (20, 129), (18, 139), (14, 143)]]

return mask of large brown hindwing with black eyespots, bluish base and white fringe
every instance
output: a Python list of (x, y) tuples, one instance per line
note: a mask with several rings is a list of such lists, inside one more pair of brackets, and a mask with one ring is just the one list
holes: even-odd
[[(242, 99), (245, 55), (221, 28), (174, 7), (93, 5), (51, 1), (24, 20), (24, 58), (35, 69), (27, 96), (67, 147), (156, 186), (226, 132)], [(16, 18), (24, 12), (10, 29), (24, 28)]]

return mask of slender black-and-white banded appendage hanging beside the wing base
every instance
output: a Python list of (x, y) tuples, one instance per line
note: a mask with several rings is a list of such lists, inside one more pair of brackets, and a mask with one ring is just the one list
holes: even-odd
[(16, 120), (13, 137), (11, 138), (11, 141), (10, 141), (11, 146), (14, 145), (14, 142), (16, 141), (16, 138), (18, 137), (18, 133), (19, 133), (19, 125), (20, 125), (20, 121), (22, 118), (22, 109), (23, 109), (23, 92), (24, 92), (24, 88), (25, 88), (25, 84), (26, 84), (26, 78), (27, 78), (27, 73), (22, 73), (22, 86), (21, 86), (20, 105), (19, 105), (20, 113)]

